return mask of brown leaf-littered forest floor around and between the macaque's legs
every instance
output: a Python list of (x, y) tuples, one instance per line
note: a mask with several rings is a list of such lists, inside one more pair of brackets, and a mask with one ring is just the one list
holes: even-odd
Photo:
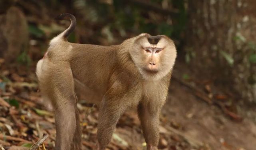
[[(7, 67), (0, 63), (0, 145), (6, 150), (26, 149), (46, 133), (49, 134), (44, 141), (46, 149), (52, 150), (54, 147), (54, 117), (40, 105), (33, 66)], [(255, 150), (256, 124), (253, 120), (202, 101), (205, 100), (203, 93), (198, 96), (198, 91), (185, 86), (186, 81), (182, 81), (184, 85), (175, 78), (183, 74), (179, 68), (185, 66), (177, 62), (169, 96), (161, 114), (159, 149)], [(83, 149), (95, 149), (97, 107), (87, 107), (81, 102), (78, 108)], [(121, 117), (108, 148), (146, 148), (136, 109), (127, 110)]]

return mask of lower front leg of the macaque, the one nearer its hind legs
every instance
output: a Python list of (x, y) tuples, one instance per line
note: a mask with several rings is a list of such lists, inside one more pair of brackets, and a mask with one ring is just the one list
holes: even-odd
[(103, 99), (98, 119), (98, 150), (105, 150), (111, 141), (117, 121), (124, 113), (125, 108), (125, 105), (121, 101), (117, 101), (117, 99)]

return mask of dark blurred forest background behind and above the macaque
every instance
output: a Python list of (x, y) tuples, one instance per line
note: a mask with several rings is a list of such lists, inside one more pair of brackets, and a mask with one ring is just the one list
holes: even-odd
[[(11, 81), (33, 83), (36, 92), (36, 63), (69, 26), (54, 18), (71, 13), (77, 26), (70, 42), (113, 45), (143, 32), (169, 36), (178, 51), (172, 81), (181, 83), (173, 88), (185, 85), (233, 120), (240, 114), (255, 123), (255, 7), (254, 0), (0, 0), (0, 96), (24, 91), (6, 86)], [(184, 91), (177, 93), (179, 99)]]

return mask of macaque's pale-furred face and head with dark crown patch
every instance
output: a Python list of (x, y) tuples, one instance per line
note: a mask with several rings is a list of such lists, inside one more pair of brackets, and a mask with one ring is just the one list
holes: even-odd
[(177, 55), (171, 39), (141, 34), (134, 43), (130, 54), (145, 79), (157, 80), (171, 71)]

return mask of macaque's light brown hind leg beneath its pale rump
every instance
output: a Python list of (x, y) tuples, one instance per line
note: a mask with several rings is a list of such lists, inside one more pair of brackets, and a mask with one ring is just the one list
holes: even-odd
[(73, 75), (68, 64), (62, 62), (51, 69), (52, 95), (55, 105), (56, 150), (80, 150), (81, 131)]

